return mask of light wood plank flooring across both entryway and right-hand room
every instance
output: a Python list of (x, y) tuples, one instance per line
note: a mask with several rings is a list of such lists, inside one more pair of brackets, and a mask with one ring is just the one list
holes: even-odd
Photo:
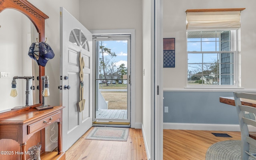
[[(66, 151), (66, 160), (147, 160), (140, 129), (130, 128), (127, 142), (86, 140), (88, 132)], [(232, 138), (212, 133), (227, 133)], [(223, 140), (240, 140), (240, 132), (164, 130), (163, 159), (205, 160), (207, 149)]]

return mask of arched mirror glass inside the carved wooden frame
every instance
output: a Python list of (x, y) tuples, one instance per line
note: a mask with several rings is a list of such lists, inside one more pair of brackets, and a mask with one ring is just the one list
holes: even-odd
[[(28, 105), (39, 103), (39, 67), (28, 56), (30, 44), (38, 38), (34, 24), (23, 13), (6, 9), (0, 13), (0, 110), (26, 106), (26, 79), (16, 80), (18, 96), (11, 97), (11, 83), (14, 76), (35, 77), (29, 80)], [(32, 89), (30, 88), (32, 86)]]

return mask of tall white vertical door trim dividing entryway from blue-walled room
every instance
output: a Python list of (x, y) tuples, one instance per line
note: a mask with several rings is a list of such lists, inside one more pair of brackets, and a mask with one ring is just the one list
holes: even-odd
[[(154, 0), (154, 121), (151, 128), (154, 132), (154, 142), (151, 141), (151, 149), (154, 148), (152, 160), (163, 159), (163, 0)], [(157, 94), (157, 90), (159, 94)]]

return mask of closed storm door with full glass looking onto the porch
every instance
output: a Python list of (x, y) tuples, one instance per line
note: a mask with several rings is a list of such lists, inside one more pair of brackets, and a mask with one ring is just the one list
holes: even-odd
[(95, 36), (94, 124), (130, 125), (130, 35)]

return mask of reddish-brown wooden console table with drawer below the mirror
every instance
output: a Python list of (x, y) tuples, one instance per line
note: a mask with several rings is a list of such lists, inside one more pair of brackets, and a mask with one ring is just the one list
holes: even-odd
[[(65, 152), (62, 152), (62, 109), (64, 106), (54, 106), (49, 110), (38, 111), (35, 108), (12, 116), (0, 118), (0, 139), (12, 139), (20, 144), (20, 159), (26, 160), (26, 142), (34, 133), (46, 128), (54, 122), (58, 122), (58, 152), (44, 152), (41, 160), (62, 160)], [(27, 148), (28, 149), (28, 148)], [(12, 151), (9, 151), (10, 153)], [(15, 152), (15, 151), (13, 151)], [(23, 153), (23, 154), (22, 154)], [(12, 153), (11, 153), (12, 154)], [(46, 156), (47, 155), (47, 156)]]

